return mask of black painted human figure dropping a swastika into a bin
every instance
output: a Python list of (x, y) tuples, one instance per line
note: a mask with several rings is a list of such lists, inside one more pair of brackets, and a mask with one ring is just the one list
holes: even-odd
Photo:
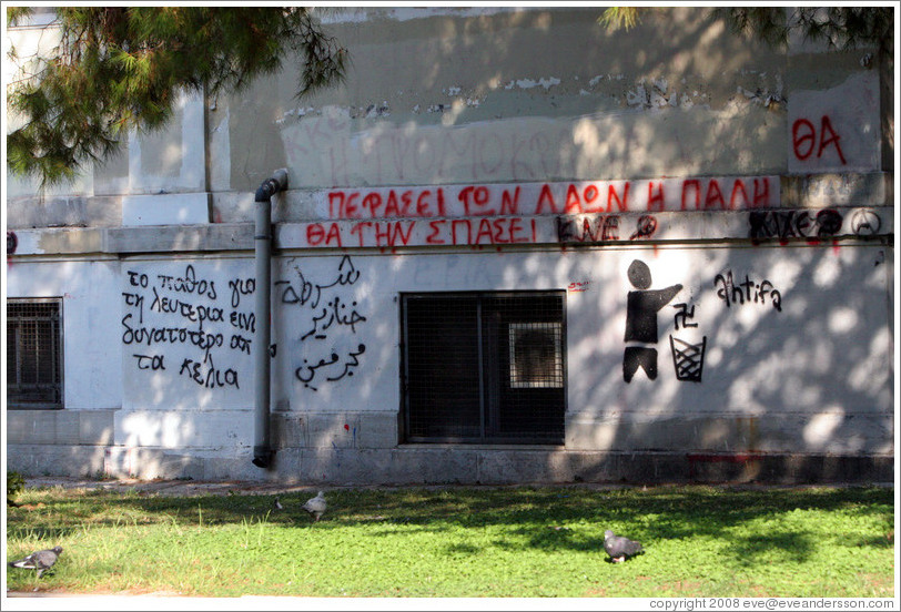
[(648, 289), (651, 285), (650, 268), (640, 259), (629, 265), (629, 283), (638, 290), (629, 292), (626, 302), (626, 341), (641, 344), (626, 347), (622, 379), (630, 382), (638, 368), (642, 368), (654, 380), (657, 378), (657, 349), (641, 345), (657, 344), (657, 313), (676, 297), (682, 286)]

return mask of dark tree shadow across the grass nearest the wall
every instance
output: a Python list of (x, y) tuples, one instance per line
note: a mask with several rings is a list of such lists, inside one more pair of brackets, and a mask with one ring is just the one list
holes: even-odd
[[(712, 487), (598, 489), (447, 488), (334, 490), (330, 509), (314, 523), (301, 510), (306, 492), (279, 496), (284, 510), (274, 510), (274, 494), (164, 497), (139, 493), (45, 496), (40, 511), (11, 509), (7, 538), (53, 541), (75, 529), (153, 524), (219, 526), (266, 522), (285, 529), (341, 529), (372, 526), (372, 536), (409, 530), (437, 532), (507, 528), (503, 540), (489, 544), (450, 544), (449, 553), (477, 554), (479, 547), (548, 552), (603, 552), (604, 530), (622, 532), (642, 543), (671, 540), (717, 540), (720, 551), (740, 565), (767, 559), (803, 561), (816, 551), (814, 534), (803, 521), (778, 523), (771, 532), (741, 533), (750, 521), (776, 520), (796, 510), (816, 509), (865, 519), (885, 517), (891, 529), (893, 490), (880, 488), (729, 490)], [(797, 522), (798, 529), (791, 529)], [(391, 526), (388, 529), (387, 526)], [(381, 529), (384, 527), (384, 529)], [(454, 548), (454, 547), (459, 548)], [(891, 548), (893, 538), (856, 538), (847, 544)]]

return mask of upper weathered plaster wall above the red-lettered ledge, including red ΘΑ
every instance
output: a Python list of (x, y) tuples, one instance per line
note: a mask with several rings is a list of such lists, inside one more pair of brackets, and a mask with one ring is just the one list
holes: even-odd
[[(246, 222), (277, 167), (293, 202), (333, 187), (881, 170), (891, 109), (864, 51), (775, 51), (706, 9), (611, 33), (598, 11), (335, 11), (345, 83), (297, 100), (288, 62), (240, 96), (186, 96), (166, 130), (130, 137), (71, 186), (36, 196), (8, 176), (10, 226), (178, 224), (204, 206), (209, 221)], [(47, 44), (52, 30), (10, 38)]]

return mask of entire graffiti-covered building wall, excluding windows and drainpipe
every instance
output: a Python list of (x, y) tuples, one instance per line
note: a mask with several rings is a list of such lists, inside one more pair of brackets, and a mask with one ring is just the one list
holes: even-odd
[[(69, 192), (10, 182), (7, 295), (61, 297), (65, 343), (64, 409), (6, 411), (10, 467), (890, 480), (884, 74), (862, 52), (776, 52), (701, 9), (614, 34), (596, 12), (340, 12), (344, 85), (301, 104), (288, 67), (240, 96), (184, 98)], [(279, 167), (261, 470), (251, 220)], [(657, 314), (658, 375), (626, 380), (636, 261), (650, 290), (678, 290)], [(564, 443), (408, 443), (399, 296), (510, 289), (565, 292)]]

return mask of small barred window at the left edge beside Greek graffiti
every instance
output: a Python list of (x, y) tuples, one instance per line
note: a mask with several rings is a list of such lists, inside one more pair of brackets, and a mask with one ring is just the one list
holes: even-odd
[(62, 325), (58, 298), (7, 300), (7, 402), (62, 408)]

